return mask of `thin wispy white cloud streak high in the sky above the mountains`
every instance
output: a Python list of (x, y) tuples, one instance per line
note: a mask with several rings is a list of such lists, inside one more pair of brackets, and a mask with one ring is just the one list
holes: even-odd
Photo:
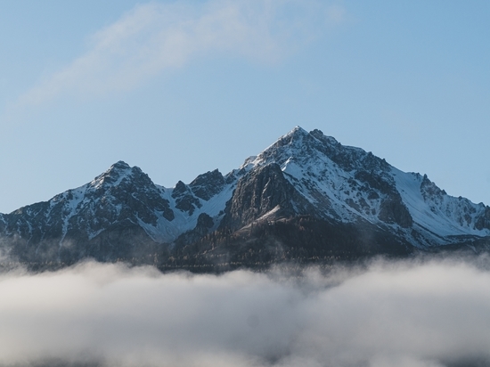
[(205, 53), (274, 62), (307, 42), (342, 9), (316, 0), (210, 0), (137, 5), (91, 38), (89, 50), (20, 98), (37, 104), (60, 94), (130, 90), (163, 69)]

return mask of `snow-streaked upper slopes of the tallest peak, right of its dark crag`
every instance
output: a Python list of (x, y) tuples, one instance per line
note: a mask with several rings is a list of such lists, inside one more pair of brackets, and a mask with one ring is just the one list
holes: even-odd
[(241, 169), (249, 172), (269, 164), (279, 165), (290, 184), (326, 217), (344, 222), (363, 218), (407, 231), (414, 225), (432, 236), (431, 243), (439, 244), (440, 238), (451, 235), (490, 234), (486, 214), (490, 209), (440, 190), (428, 195), (436, 189), (428, 186), (427, 177), (412, 182), (412, 174), (371, 152), (342, 145), (320, 130), (307, 133), (296, 126), (265, 151), (245, 160)]

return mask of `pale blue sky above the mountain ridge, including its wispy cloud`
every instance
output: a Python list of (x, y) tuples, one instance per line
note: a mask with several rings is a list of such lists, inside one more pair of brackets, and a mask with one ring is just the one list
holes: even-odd
[(119, 159), (227, 173), (319, 128), (490, 204), (487, 1), (5, 0), (0, 212)]

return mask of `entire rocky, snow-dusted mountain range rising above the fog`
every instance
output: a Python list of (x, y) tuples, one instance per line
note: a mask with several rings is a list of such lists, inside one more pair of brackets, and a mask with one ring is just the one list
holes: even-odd
[(227, 175), (154, 184), (119, 161), (88, 184), (0, 214), (4, 257), (162, 269), (490, 249), (490, 208), (454, 198), (320, 130), (295, 127)]

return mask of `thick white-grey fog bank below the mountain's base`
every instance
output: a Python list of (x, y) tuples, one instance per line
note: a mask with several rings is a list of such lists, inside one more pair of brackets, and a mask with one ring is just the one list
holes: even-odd
[(484, 366), (470, 261), (223, 275), (86, 263), (0, 276), (5, 366)]

